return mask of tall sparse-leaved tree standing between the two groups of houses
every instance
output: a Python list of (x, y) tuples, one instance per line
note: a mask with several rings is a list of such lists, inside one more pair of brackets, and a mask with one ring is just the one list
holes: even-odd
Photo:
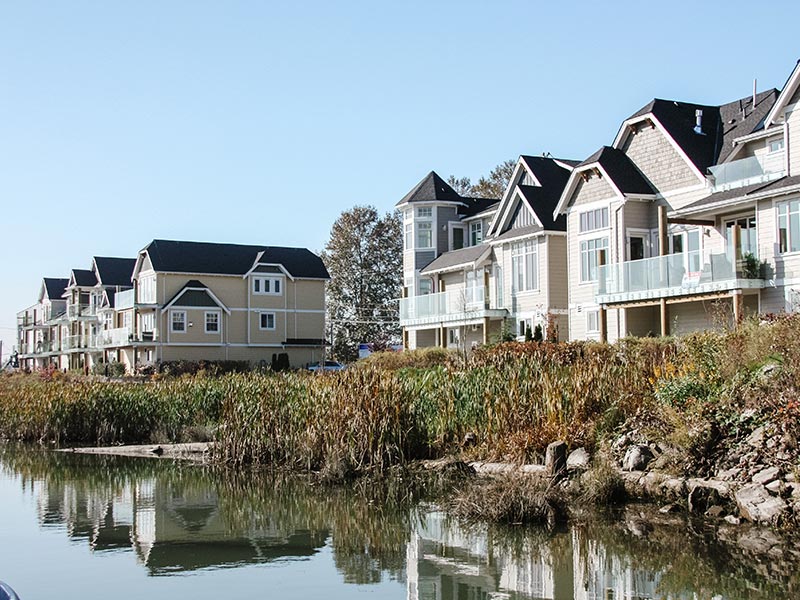
[(327, 319), (333, 355), (358, 357), (358, 344), (385, 347), (400, 335), (403, 232), (399, 214), (383, 217), (372, 206), (344, 211), (322, 252), (331, 280)]

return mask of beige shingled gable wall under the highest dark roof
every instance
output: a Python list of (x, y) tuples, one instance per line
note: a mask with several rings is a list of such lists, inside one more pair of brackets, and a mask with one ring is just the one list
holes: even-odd
[(699, 182), (696, 172), (658, 127), (646, 123), (633, 125), (621, 150), (660, 192)]

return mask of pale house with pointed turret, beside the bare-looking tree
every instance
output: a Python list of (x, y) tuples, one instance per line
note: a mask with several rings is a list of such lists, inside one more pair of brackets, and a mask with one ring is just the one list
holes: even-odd
[(431, 172), (403, 215), (407, 348), (469, 348), (537, 325), (566, 336), (565, 219), (553, 210), (574, 161), (520, 156), (503, 197), (459, 195)]

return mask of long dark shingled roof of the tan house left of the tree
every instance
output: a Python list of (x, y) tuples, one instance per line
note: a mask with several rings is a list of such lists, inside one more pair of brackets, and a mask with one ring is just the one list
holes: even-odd
[(306, 248), (153, 240), (145, 250), (153, 269), (167, 273), (244, 275), (261, 262), (282, 265), (292, 277), (330, 279), (322, 259)]

